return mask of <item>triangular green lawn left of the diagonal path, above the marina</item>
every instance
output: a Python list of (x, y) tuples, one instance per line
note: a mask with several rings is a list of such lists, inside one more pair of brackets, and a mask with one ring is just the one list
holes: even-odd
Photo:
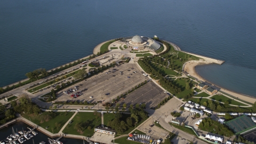
[[(66, 116), (65, 116), (65, 112), (55, 112), (51, 115), (52, 118), (50, 119), (50, 121), (41, 123), (42, 118), (45, 117), (48, 114), (49, 114), (49, 111), (45, 111), (45, 112), (43, 112), (43, 114), (37, 115), (37, 116), (25, 115), (25, 114), (22, 114), (22, 116), (24, 118), (30, 120), (31, 122), (43, 127), (44, 129), (45, 129), (46, 126), (49, 126), (48, 129), (47, 129), (47, 131), (49, 131), (49, 132), (52, 132), (52, 129), (53, 129), (53, 133), (58, 133), (60, 131), (61, 127), (73, 115), (73, 113), (71, 113), (71, 112), (67, 112)], [(57, 127), (55, 126), (56, 122), (60, 124), (59, 129), (57, 129)]]

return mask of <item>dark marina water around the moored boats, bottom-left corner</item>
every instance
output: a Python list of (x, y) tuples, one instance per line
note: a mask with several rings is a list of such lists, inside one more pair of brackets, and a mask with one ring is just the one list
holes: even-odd
[[(29, 126), (23, 122), (14, 123), (14, 124), (10, 125), (9, 127), (5, 127), (4, 129), (0, 130), (0, 141), (5, 140), (10, 134), (12, 134), (12, 127), (15, 132), (21, 131), (22, 128), (23, 128), (23, 130), (28, 131), (27, 127), (29, 127), (31, 129), (31, 126)], [(45, 135), (41, 132), (38, 132), (38, 131), (36, 131), (36, 132), (38, 133), (37, 135), (34, 135), (33, 138), (30, 138), (23, 143), (24, 144), (33, 143), (33, 140), (34, 140), (35, 144), (38, 144), (41, 141), (49, 143), (48, 142), (49, 137), (47, 135)], [(57, 138), (54, 138), (54, 139), (57, 139)], [(88, 143), (87, 141), (83, 142), (83, 140), (80, 140), (80, 139), (70, 139), (70, 138), (61, 138), (60, 141), (65, 144), (67, 144), (67, 143), (77, 143), (77, 144)]]

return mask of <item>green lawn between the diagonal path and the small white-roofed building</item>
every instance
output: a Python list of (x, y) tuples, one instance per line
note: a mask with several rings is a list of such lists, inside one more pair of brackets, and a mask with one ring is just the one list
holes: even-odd
[[(67, 134), (75, 134), (75, 135), (84, 135), (86, 137), (92, 137), (94, 133), (95, 126), (101, 125), (101, 116), (94, 115), (94, 113), (78, 113), (72, 119), (73, 123), (68, 124), (65, 129), (62, 131)], [(82, 124), (83, 131), (78, 132), (74, 126), (75, 124)], [(91, 130), (87, 129), (88, 126), (91, 126)]]

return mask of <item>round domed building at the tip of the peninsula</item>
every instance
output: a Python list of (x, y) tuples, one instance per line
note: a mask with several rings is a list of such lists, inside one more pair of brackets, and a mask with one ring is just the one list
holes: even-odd
[(159, 42), (155, 41), (149, 37), (133, 36), (133, 37), (124, 37), (121, 41), (125, 42), (127, 47), (132, 50), (145, 50), (149, 49), (151, 51), (158, 50), (161, 45)]

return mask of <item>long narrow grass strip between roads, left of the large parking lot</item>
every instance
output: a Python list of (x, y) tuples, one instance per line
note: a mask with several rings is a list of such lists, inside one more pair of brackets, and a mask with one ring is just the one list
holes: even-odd
[[(55, 79), (59, 79), (59, 81), (55, 81), (55, 79), (54, 79), (54, 80), (49, 81), (49, 82), (47, 82), (47, 83), (44, 83), (44, 84), (41, 84), (41, 85), (39, 85), (39, 86), (33, 87), (32, 89), (28, 90), (28, 92), (35, 92), (35, 91), (37, 91), (37, 90), (43, 89), (43, 88), (46, 87), (46, 86), (52, 85), (52, 84), (54, 84), (54, 83), (58, 83), (58, 82), (62, 81), (62, 77), (65, 77), (64, 79), (66, 79), (66, 78), (68, 78), (68, 77), (73, 76), (73, 75), (74, 75), (73, 73), (75, 73), (75, 74), (78, 73), (78, 71), (79, 71), (79, 70), (76, 70), (76, 71), (71, 72), (71, 73), (69, 73), (69, 74), (67, 74), (67, 75), (59, 76), (58, 78), (55, 78)], [(53, 89), (53, 88), (52, 88), (52, 89)]]

